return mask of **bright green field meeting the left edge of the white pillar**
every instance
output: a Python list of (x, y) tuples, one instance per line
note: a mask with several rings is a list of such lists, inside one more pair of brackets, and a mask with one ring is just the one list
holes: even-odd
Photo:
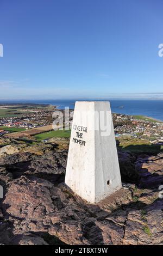
[(43, 132), (43, 133), (40, 133), (38, 135), (35, 135), (34, 138), (37, 139), (37, 141), (43, 141), (43, 139), (50, 139), (50, 138), (53, 138), (53, 137), (70, 137), (70, 134), (71, 134), (71, 131), (49, 131), (49, 132)]

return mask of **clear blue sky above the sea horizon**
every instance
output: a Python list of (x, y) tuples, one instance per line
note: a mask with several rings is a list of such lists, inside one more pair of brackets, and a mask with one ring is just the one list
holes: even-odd
[(0, 99), (163, 99), (162, 0), (1, 0)]

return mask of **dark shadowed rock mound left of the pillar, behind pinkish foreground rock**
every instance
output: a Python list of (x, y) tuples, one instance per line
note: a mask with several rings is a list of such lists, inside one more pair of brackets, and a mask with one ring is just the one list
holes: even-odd
[[(20, 161), (20, 162), (19, 162)], [(34, 175), (55, 184), (64, 181), (67, 151), (49, 151), (42, 156), (30, 153), (14, 154), (0, 158), (0, 164), (5, 166), (14, 179), (21, 175)]]

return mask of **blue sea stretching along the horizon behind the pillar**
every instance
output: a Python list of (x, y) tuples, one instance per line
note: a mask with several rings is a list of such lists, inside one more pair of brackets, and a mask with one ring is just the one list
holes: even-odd
[[(163, 100), (124, 100), (124, 99), (108, 100), (108, 99), (105, 99), (102, 101), (110, 101), (111, 111), (114, 113), (128, 114), (128, 115), (146, 115), (147, 117), (152, 117), (157, 120), (163, 121)], [(0, 104), (2, 103), (38, 103), (38, 104), (55, 105), (59, 109), (64, 109), (65, 107), (74, 109), (75, 102), (76, 100), (13, 100), (13, 101), (10, 100), (10, 101), (0, 101)]]

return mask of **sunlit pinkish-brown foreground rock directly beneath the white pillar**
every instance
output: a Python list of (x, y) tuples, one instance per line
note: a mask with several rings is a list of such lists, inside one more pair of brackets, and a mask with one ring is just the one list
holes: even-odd
[(3, 209), (14, 221), (14, 235), (47, 232), (71, 245), (162, 243), (162, 201), (142, 204), (139, 191), (135, 202), (134, 190), (128, 184), (90, 205), (65, 185), (55, 187), (44, 179), (22, 176), (10, 182)]

